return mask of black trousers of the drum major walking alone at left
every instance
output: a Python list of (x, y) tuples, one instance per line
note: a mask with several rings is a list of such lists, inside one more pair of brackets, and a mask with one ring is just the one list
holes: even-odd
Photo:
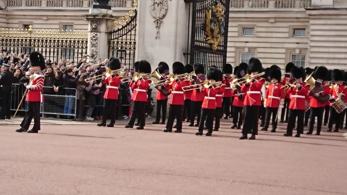
[(40, 104), (41, 102), (28, 102), (28, 109), (20, 127), (26, 130), (29, 130), (31, 120), (34, 118), (34, 127), (33, 130), (40, 131)]

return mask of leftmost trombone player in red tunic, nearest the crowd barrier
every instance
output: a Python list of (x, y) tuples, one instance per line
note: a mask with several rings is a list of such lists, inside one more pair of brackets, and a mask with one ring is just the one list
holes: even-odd
[[(117, 70), (120, 68), (120, 61), (117, 58), (111, 57), (109, 60), (108, 67), (111, 70)], [(106, 86), (106, 91), (104, 94), (104, 111), (103, 111), (103, 118), (101, 119), (100, 123), (97, 124), (97, 126), (106, 126), (106, 120), (108, 116), (111, 118), (110, 124), (107, 124), (107, 127), (114, 127), (114, 123), (116, 121), (116, 105), (118, 100), (118, 87), (121, 82), (121, 75), (117, 75), (115, 72), (112, 72), (112, 74), (107, 77), (106, 79), (103, 78), (103, 85)]]

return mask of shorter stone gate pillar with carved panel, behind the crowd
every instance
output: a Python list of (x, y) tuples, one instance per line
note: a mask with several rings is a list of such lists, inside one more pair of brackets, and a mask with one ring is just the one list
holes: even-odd
[(112, 31), (115, 16), (112, 10), (90, 9), (89, 14), (83, 15), (89, 21), (88, 55), (90, 59), (102, 61), (108, 59), (109, 32)]

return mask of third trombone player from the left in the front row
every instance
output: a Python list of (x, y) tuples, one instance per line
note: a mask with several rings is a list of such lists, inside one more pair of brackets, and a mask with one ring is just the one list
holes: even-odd
[[(181, 62), (175, 62), (172, 64), (172, 72), (175, 76), (184, 74), (184, 65)], [(163, 130), (163, 132), (172, 132), (175, 117), (177, 119), (175, 133), (182, 132), (182, 112), (184, 105), (184, 92), (182, 87), (189, 85), (189, 83), (184, 82), (184, 80), (185, 79), (176, 77), (175, 81), (172, 81), (172, 83), (169, 84), (169, 92), (171, 93), (169, 102), (169, 117), (167, 119), (166, 128)]]

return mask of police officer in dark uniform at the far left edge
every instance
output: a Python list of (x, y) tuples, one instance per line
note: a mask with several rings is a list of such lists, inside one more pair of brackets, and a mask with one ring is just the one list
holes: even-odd
[(3, 63), (4, 72), (0, 75), (0, 97), (1, 97), (1, 109), (0, 109), (0, 119), (10, 119), (10, 105), (11, 105), (11, 85), (14, 81), (13, 73), (10, 71), (10, 64), (7, 58)]

